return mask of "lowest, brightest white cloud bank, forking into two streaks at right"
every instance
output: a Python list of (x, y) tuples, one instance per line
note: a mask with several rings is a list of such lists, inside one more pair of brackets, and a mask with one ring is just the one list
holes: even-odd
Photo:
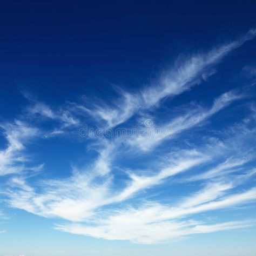
[[(220, 191), (226, 187), (220, 188)], [(212, 194), (212, 188), (206, 192)], [(200, 200), (195, 200), (199, 199)], [(215, 198), (215, 196), (214, 196)], [(244, 228), (255, 225), (254, 221), (234, 221), (229, 223), (205, 224), (192, 219), (182, 218), (205, 211), (231, 207), (256, 199), (256, 188), (234, 194), (217, 201), (213, 197), (201, 200), (199, 194), (188, 198), (183, 207), (169, 207), (159, 204), (142, 206), (140, 209), (125, 209), (106, 218), (97, 218), (93, 225), (67, 224), (57, 225), (58, 230), (91, 235), (110, 240), (130, 240), (133, 242), (154, 244), (172, 241), (194, 233), (211, 233), (221, 230)], [(207, 202), (207, 203), (206, 203)], [(181, 218), (181, 220), (179, 220)]]

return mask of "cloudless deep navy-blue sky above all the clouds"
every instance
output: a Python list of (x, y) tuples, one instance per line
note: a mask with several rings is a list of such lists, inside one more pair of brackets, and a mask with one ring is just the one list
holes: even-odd
[(2, 114), (22, 103), (18, 86), (51, 102), (107, 82), (136, 87), (180, 53), (255, 23), (254, 1), (4, 1), (0, 82), (16, 104), (2, 99)]

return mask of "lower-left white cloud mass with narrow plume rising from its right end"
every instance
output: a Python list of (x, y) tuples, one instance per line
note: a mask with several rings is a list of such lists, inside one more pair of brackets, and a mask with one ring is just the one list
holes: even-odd
[[(12, 178), (9, 193), (10, 205), (44, 217), (60, 217), (82, 221), (93, 214), (95, 208), (104, 205), (109, 192), (112, 145), (99, 151), (95, 163), (85, 170), (73, 169), (67, 179), (45, 180), (42, 192), (26, 183), (24, 178)], [(104, 179), (102, 177), (104, 176)], [(18, 200), (17, 200), (18, 199)]]

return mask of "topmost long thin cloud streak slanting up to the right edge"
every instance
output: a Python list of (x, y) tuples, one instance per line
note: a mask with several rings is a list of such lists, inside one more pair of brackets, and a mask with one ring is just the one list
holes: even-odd
[(157, 106), (164, 98), (177, 96), (207, 79), (214, 73), (213, 67), (228, 53), (253, 39), (255, 35), (256, 30), (252, 29), (237, 41), (219, 45), (207, 53), (198, 53), (185, 58), (173, 69), (163, 72), (159, 79), (139, 93), (119, 89), (120, 98), (112, 106), (90, 102), (93, 107), (77, 105), (77, 108), (91, 114), (96, 119), (105, 120), (110, 127), (122, 124), (139, 110)]

